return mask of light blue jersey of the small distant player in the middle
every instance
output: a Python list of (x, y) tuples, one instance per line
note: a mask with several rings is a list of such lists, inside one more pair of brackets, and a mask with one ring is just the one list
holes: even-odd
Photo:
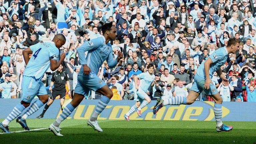
[(148, 72), (141, 73), (137, 75), (137, 77), (140, 79), (140, 85), (139, 85), (139, 91), (147, 92), (148, 88), (152, 84), (152, 82), (155, 80), (154, 74), (149, 74)]

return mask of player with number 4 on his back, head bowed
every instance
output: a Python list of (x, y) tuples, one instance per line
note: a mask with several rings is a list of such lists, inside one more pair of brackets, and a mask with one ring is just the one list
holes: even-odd
[[(23, 50), (23, 56), (27, 66), (23, 72), (21, 82), (21, 102), (14, 107), (8, 117), (0, 123), (0, 128), (4, 132), (10, 133), (8, 124), (19, 116), (22, 111), (30, 105), (35, 95), (37, 95), (39, 100), (32, 103), (26, 112), (16, 119), (16, 122), (23, 128), (29, 130), (26, 123), (27, 117), (36, 112), (48, 101), (48, 95), (41, 79), (49, 67), (52, 71), (55, 71), (65, 59), (65, 53), (62, 53), (59, 60), (59, 48), (62, 47), (65, 42), (66, 38), (64, 35), (57, 34), (49, 43), (38, 43)], [(29, 59), (30, 54), (32, 54), (32, 56)]]

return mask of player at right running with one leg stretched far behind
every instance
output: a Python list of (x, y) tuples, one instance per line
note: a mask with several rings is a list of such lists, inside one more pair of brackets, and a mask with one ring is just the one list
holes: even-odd
[(167, 100), (157, 100), (155, 107), (153, 108), (153, 113), (156, 114), (157, 111), (165, 105), (180, 105), (180, 104), (192, 104), (200, 93), (204, 90), (206, 95), (209, 95), (214, 101), (214, 115), (216, 120), (216, 131), (230, 131), (233, 129), (232, 126), (226, 126), (222, 123), (222, 98), (217, 91), (215, 85), (212, 83), (211, 78), (213, 73), (216, 71), (217, 74), (222, 79), (222, 83), (227, 86), (228, 80), (222, 74), (220, 67), (224, 65), (227, 61), (228, 54), (235, 53), (239, 48), (240, 41), (235, 38), (230, 38), (228, 40), (227, 47), (219, 48), (213, 52), (209, 58), (204, 61), (197, 69), (194, 77), (194, 83), (189, 91), (187, 97), (176, 96)]

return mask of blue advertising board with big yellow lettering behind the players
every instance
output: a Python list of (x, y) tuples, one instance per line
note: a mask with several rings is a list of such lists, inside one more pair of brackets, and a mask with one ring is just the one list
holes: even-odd
[[(6, 118), (21, 99), (0, 99), (0, 118)], [(34, 99), (33, 101), (35, 101)], [(32, 101), (32, 102), (33, 102)], [(89, 119), (99, 100), (83, 100), (68, 119)], [(60, 113), (60, 100), (56, 99), (46, 111), (44, 118), (56, 119)], [(135, 104), (133, 100), (111, 100), (106, 109), (100, 114), (99, 120), (124, 120), (124, 114)], [(156, 101), (151, 101), (141, 110), (142, 117), (137, 112), (130, 115), (131, 120), (200, 120), (214, 121), (214, 103), (196, 101), (192, 105), (166, 106), (161, 108), (156, 115), (152, 109)], [(36, 118), (43, 111), (42, 106), (37, 112), (29, 116)], [(256, 121), (255, 102), (223, 102), (223, 121)]]

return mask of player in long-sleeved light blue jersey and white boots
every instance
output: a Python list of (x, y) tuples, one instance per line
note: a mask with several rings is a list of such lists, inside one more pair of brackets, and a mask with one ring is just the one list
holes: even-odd
[[(105, 60), (107, 60), (108, 66), (113, 68), (117, 65), (119, 60), (123, 58), (123, 53), (119, 52), (118, 57), (113, 59), (113, 50), (109, 41), (115, 40), (117, 34), (116, 28), (112, 26), (112, 22), (102, 26), (102, 33), (102, 37), (88, 41), (77, 49), (82, 67), (78, 73), (77, 85), (73, 100), (63, 109), (57, 120), (49, 126), (49, 129), (55, 135), (63, 136), (59, 132), (60, 123), (66, 119), (72, 113), (72, 111), (74, 111), (74, 109), (84, 99), (85, 94), (87, 94), (90, 90), (102, 94), (103, 97), (100, 99), (92, 114), (92, 117), (87, 121), (87, 124), (92, 126), (95, 130), (102, 132), (102, 129), (98, 125), (97, 117), (105, 109), (108, 102), (112, 98), (113, 93), (106, 83), (97, 76), (97, 73)], [(88, 51), (88, 53), (87, 57), (85, 58), (86, 51)]]

